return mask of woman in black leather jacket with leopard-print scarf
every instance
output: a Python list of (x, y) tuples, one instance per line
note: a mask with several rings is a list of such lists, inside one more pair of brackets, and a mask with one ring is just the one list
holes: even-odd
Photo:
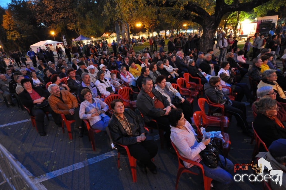
[[(137, 160), (137, 165), (144, 173), (147, 173), (147, 167), (153, 174), (157, 174), (156, 165), (151, 159), (156, 156), (158, 146), (153, 136), (145, 130), (144, 122), (132, 110), (124, 109), (120, 99), (111, 102), (111, 109), (114, 113), (108, 123), (108, 128), (113, 141), (128, 147), (130, 155)], [(115, 144), (115, 147), (119, 152), (125, 152), (121, 146)]]

